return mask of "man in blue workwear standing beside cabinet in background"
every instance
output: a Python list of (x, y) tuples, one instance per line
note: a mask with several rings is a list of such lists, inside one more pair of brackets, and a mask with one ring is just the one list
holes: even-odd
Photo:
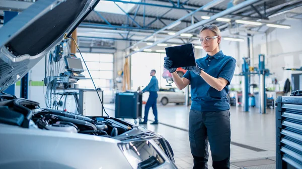
[(146, 124), (148, 121), (148, 113), (150, 107), (152, 107), (153, 114), (155, 116), (155, 121), (151, 124), (158, 124), (158, 112), (157, 112), (157, 98), (158, 94), (157, 92), (159, 91), (159, 81), (155, 77), (156, 70), (151, 70), (150, 76), (152, 76), (150, 83), (142, 90), (142, 92), (149, 92), (149, 98), (148, 101), (145, 105), (145, 113), (144, 113), (144, 118), (142, 122), (139, 122), (139, 124)]

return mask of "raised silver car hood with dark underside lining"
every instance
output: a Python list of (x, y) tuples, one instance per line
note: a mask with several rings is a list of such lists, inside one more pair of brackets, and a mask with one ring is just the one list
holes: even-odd
[(69, 37), (100, 0), (41, 0), (0, 29), (0, 91)]

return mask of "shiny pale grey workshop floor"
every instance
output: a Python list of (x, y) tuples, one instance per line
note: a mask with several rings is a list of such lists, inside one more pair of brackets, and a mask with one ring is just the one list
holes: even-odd
[[(106, 104), (105, 108), (108, 114), (114, 117), (114, 104)], [(188, 138), (189, 110), (190, 106), (184, 105), (158, 105), (160, 124), (150, 124), (154, 120), (150, 109), (148, 117), (150, 121), (142, 125), (149, 130), (157, 131), (170, 142), (175, 154), (175, 163), (179, 168), (193, 166)], [(232, 106), (230, 111), (231, 168), (275, 168), (274, 109), (267, 109), (266, 114), (260, 114), (257, 108), (250, 108), (250, 112), (243, 112), (242, 107)], [(133, 119), (125, 120), (134, 122)], [(212, 168), (211, 161), (210, 157), (209, 168)]]

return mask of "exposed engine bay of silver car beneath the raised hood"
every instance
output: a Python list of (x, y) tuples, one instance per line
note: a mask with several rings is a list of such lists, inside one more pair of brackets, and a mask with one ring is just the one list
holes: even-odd
[[(91, 117), (67, 111), (40, 108), (39, 103), (24, 98), (0, 102), (0, 123), (71, 133), (115, 137), (133, 125), (112, 117)], [(34, 123), (34, 124), (33, 124)]]

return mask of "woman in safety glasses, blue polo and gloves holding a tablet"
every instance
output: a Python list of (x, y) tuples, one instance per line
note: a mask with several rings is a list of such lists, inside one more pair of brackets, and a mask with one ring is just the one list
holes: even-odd
[(186, 67), (183, 78), (170, 69), (172, 61), (165, 57), (164, 67), (172, 73), (182, 90), (191, 84), (192, 104), (189, 115), (189, 140), (194, 158), (193, 168), (207, 168), (208, 142), (213, 168), (230, 168), (231, 126), (230, 105), (226, 95), (236, 67), (236, 60), (219, 50), (221, 33), (217, 26), (200, 30), (200, 42), (207, 55)]

